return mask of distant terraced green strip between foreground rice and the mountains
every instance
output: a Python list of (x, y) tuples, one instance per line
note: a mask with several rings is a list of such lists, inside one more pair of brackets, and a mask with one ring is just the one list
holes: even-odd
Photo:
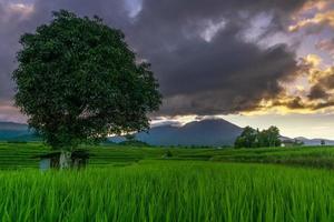
[[(141, 160), (161, 160), (170, 150), (173, 160), (218, 162), (281, 163), (334, 169), (334, 147), (262, 148), (262, 149), (185, 149), (136, 148), (122, 145), (82, 147), (90, 153), (94, 167), (132, 164)], [(0, 143), (0, 169), (38, 168), (33, 158), (49, 152), (42, 143)]]

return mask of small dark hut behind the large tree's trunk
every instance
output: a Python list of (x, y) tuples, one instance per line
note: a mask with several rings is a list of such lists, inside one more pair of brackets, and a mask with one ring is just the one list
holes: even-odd
[[(60, 168), (60, 155), (61, 152), (51, 152), (35, 158), (39, 158), (40, 170), (59, 169)], [(70, 153), (70, 168), (84, 168), (88, 163), (89, 153), (85, 150), (76, 150)]]

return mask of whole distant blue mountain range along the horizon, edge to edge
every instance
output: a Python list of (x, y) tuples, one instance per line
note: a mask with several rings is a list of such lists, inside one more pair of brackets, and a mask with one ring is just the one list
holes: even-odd
[[(140, 132), (136, 139), (153, 145), (230, 145), (242, 128), (223, 119), (189, 122), (183, 127), (173, 124), (151, 128), (148, 133)], [(291, 138), (282, 137), (283, 140)], [(320, 145), (323, 139), (295, 138), (305, 145)], [(0, 122), (0, 141), (37, 141), (40, 140), (29, 130), (28, 124)], [(326, 145), (334, 145), (334, 140), (325, 140)], [(125, 141), (122, 137), (114, 137), (112, 142)]]

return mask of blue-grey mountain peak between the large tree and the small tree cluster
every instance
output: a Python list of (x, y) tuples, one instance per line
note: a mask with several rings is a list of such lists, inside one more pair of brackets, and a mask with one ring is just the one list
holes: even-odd
[[(137, 133), (136, 139), (153, 145), (230, 145), (242, 130), (223, 119), (210, 119), (189, 122), (183, 127), (154, 127), (148, 133)], [(121, 139), (116, 137), (111, 141), (118, 142)]]

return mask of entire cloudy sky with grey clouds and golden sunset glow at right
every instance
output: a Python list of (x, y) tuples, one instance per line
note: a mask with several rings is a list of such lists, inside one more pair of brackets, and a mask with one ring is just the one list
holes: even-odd
[(59, 9), (101, 17), (153, 64), (154, 122), (215, 117), (334, 139), (334, 0), (0, 0), (0, 121), (26, 120), (12, 105), (20, 34)]

